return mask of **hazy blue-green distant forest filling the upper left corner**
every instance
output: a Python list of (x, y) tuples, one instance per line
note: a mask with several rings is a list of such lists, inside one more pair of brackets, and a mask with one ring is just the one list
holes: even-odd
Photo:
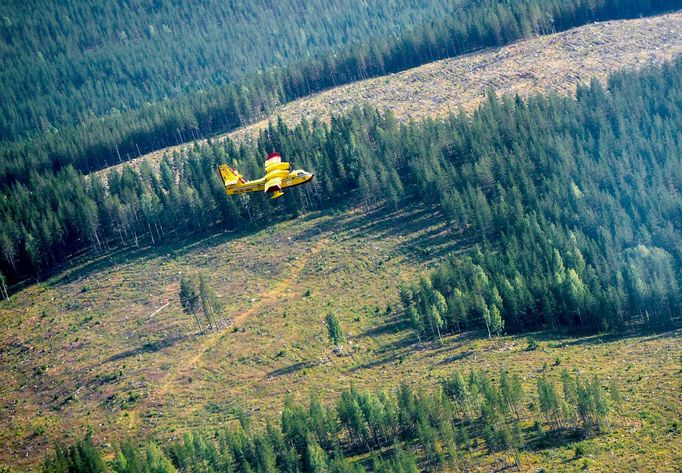
[(455, 6), (442, 0), (3, 1), (0, 139), (399, 34)]

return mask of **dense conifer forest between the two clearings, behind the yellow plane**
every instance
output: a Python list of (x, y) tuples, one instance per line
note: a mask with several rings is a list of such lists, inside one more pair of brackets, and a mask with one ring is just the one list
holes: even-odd
[[(352, 192), (438, 209), (471, 250), (402, 291), (419, 336), (472, 328), (620, 329), (672, 324), (682, 283), (682, 61), (580, 87), (575, 99), (491, 95), (472, 117), (400, 125), (372, 109), (332, 123), (272, 124), (258, 143), (209, 143), (159, 172), (67, 168), (0, 200), (2, 268), (16, 279), (91, 247), (158, 244), (325, 208)], [(312, 170), (274, 204), (228, 198), (215, 166), (262, 172), (277, 149)]]

